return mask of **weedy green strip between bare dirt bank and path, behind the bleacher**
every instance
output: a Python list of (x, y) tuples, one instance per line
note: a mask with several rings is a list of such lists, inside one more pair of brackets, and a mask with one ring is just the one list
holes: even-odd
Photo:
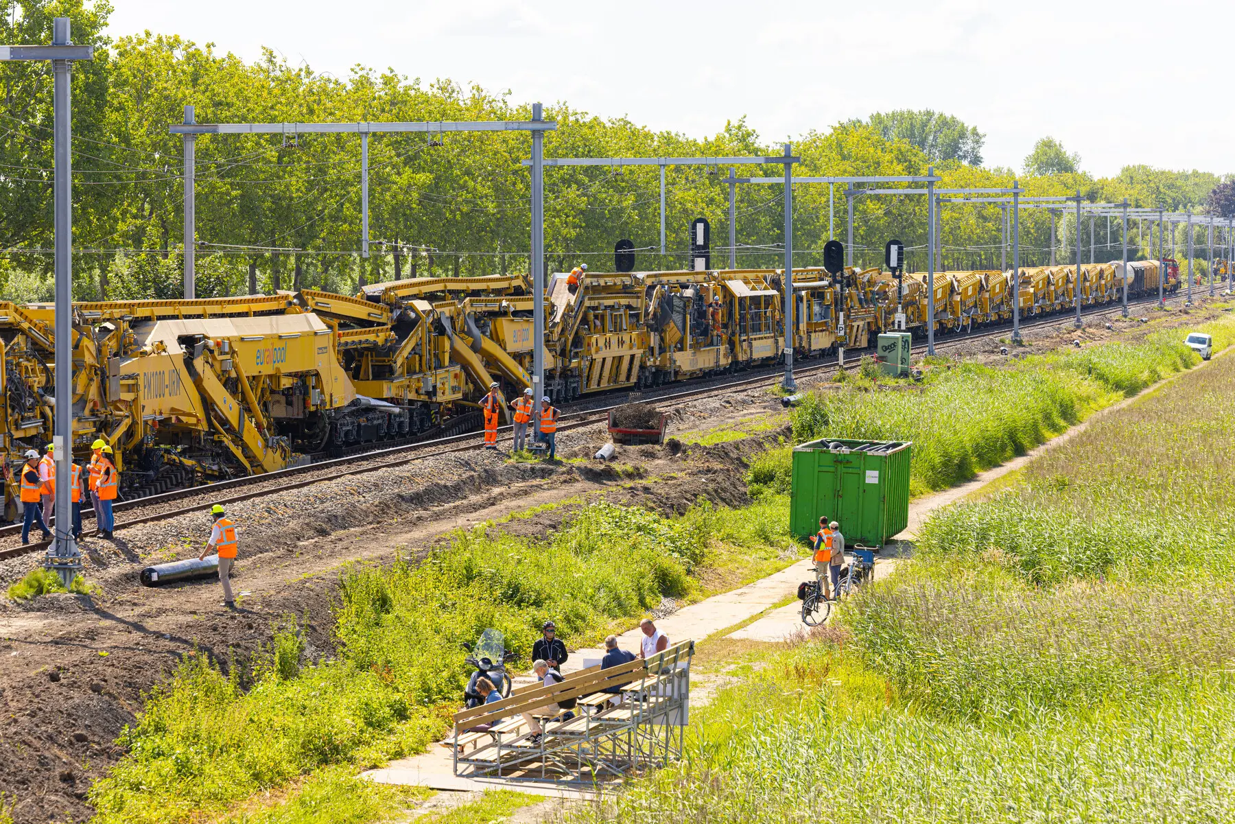
[(459, 642), (505, 633), (526, 663), (540, 623), (594, 641), (663, 597), (705, 594), (706, 581), (753, 579), (800, 555), (777, 516), (695, 505), (678, 519), (592, 503), (558, 532), (515, 537), (494, 526), (457, 534), (424, 562), (342, 576), (337, 657), (303, 663), (295, 623), (252, 673), (224, 675), (189, 656), (148, 697), (121, 742), (128, 756), (91, 788), (96, 822), (248, 824), (372, 822), (415, 798), (358, 770), (422, 751), (458, 707)]

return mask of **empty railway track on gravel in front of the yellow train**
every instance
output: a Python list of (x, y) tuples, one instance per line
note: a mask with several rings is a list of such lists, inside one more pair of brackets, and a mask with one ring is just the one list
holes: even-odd
[[(1183, 295), (1174, 295), (1168, 298), (1168, 303), (1174, 303), (1183, 300)], [(1152, 306), (1157, 303), (1157, 296), (1150, 296), (1141, 300), (1129, 301), (1129, 309)], [(1087, 319), (1103, 317), (1109, 315), (1120, 314), (1123, 306), (1116, 304), (1114, 306), (1095, 306), (1089, 310), (1082, 310), (1082, 316)], [(1050, 315), (1046, 317), (1030, 319), (1021, 322), (1023, 329), (1049, 329), (1052, 326), (1066, 326), (1074, 322), (1074, 315)], [(1000, 324), (998, 326), (989, 326), (972, 332), (953, 332), (946, 337), (937, 338), (935, 345), (936, 351), (947, 351), (969, 343), (976, 340), (999, 337), (1008, 335), (1011, 331), (1011, 324)], [(926, 351), (926, 343), (918, 343), (913, 347), (915, 353), (923, 353)], [(851, 350), (848, 355), (853, 356), (852, 362), (847, 366), (856, 364), (857, 358), (863, 353), (868, 353), (867, 350)], [(835, 374), (840, 371), (840, 363), (835, 358), (830, 359), (818, 359), (815, 362), (803, 362), (802, 366), (794, 368), (794, 376), (799, 378), (814, 377), (814, 376), (827, 376)], [(705, 379), (701, 384), (697, 385), (674, 385), (664, 387), (663, 390), (645, 390), (640, 394), (641, 400), (656, 401), (658, 404), (678, 405), (687, 403), (693, 399), (704, 398), (713, 394), (725, 394), (737, 389), (751, 388), (761, 384), (769, 384), (779, 380), (784, 374), (783, 368), (773, 369), (761, 369), (757, 376), (747, 376), (737, 379)], [(625, 403), (625, 400), (622, 401)], [(588, 404), (576, 404), (574, 406)], [(620, 406), (621, 403), (609, 403), (600, 406), (589, 406), (584, 409), (576, 409), (574, 411), (564, 411), (561, 416), (558, 424), (558, 431), (571, 431), (576, 429), (582, 429), (597, 424), (601, 420), (608, 420), (609, 411)], [(569, 409), (569, 408), (567, 408)], [(509, 431), (510, 426), (500, 427), (499, 431)], [(161, 494), (148, 495), (138, 498), (136, 500), (121, 502), (114, 507), (117, 515), (125, 513), (132, 513), (132, 518), (125, 520), (117, 520), (115, 529), (124, 529), (126, 526), (136, 526), (138, 524), (148, 524), (153, 521), (165, 520), (169, 518), (175, 518), (178, 515), (190, 514), (195, 511), (204, 511), (210, 509), (214, 504), (233, 504), (243, 500), (251, 500), (262, 495), (268, 495), (278, 492), (288, 492), (293, 489), (300, 489), (304, 487), (310, 487), (316, 483), (325, 483), (335, 481), (338, 478), (345, 478), (348, 476), (363, 474), (368, 472), (377, 472), (378, 469), (385, 469), (390, 467), (404, 466), (412, 463), (415, 461), (421, 461), (437, 455), (447, 455), (452, 452), (466, 452), (478, 448), (483, 444), (483, 440), (477, 432), (463, 432), (457, 435), (450, 435), (446, 437), (437, 437), (427, 441), (420, 441), (410, 445), (390, 446), (379, 450), (367, 451), (359, 455), (350, 455), (338, 458), (329, 458), (325, 461), (317, 461), (315, 463), (291, 467), (288, 469), (279, 469), (277, 472), (269, 472), (259, 476), (249, 476), (245, 478), (235, 478), (231, 481), (220, 481), (211, 484), (205, 484), (201, 487), (191, 487), (188, 489), (175, 489), (172, 492), (165, 492)], [(195, 500), (196, 499), (196, 500)], [(88, 514), (93, 515), (93, 510), (83, 510), (83, 518)], [(0, 539), (16, 536), (21, 532), (21, 525), (14, 524), (9, 526), (0, 528)], [(46, 550), (48, 541), (40, 541), (37, 544), (30, 544), (27, 546), (9, 546), (0, 547), (0, 560), (19, 557), (21, 555), (27, 555), (32, 552), (38, 552)]]

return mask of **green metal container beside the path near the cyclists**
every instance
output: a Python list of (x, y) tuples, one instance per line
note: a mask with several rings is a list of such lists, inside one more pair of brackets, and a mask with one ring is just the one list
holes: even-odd
[(793, 447), (789, 530), (840, 524), (846, 546), (881, 547), (909, 525), (909, 441), (824, 439)]

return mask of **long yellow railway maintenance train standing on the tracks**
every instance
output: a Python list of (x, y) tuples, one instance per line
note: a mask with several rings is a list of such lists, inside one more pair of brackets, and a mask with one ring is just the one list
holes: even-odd
[[(1021, 271), (1025, 317), (1119, 300), (1123, 266)], [(1156, 293), (1156, 262), (1130, 263), (1130, 294)], [(898, 289), (898, 283), (899, 289)], [(939, 331), (1011, 315), (1010, 272), (935, 275)], [(1167, 273), (1168, 292), (1178, 278)], [(925, 334), (926, 277), (794, 271), (792, 345), (803, 357), (865, 348), (898, 310)], [(898, 300), (899, 292), (899, 300)], [(526, 275), (416, 278), (356, 296), (305, 289), (73, 309), (73, 448), (103, 439), (121, 498), (270, 472), (368, 444), (479, 424), (492, 382), (530, 385), (535, 296)], [(555, 275), (543, 298), (546, 389), (557, 401), (769, 366), (785, 345), (783, 272)], [(844, 321), (844, 322), (842, 322)], [(0, 457), (12, 468), (51, 440), (53, 306), (0, 303)]]

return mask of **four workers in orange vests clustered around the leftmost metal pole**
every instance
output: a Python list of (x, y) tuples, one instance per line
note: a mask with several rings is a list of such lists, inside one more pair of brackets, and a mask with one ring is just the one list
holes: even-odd
[[(94, 518), (99, 526), (99, 537), (110, 539), (115, 529), (115, 516), (111, 504), (120, 492), (120, 472), (111, 462), (111, 446), (103, 439), (90, 445), (90, 462), (86, 465), (86, 490), (94, 505)], [(19, 499), (25, 518), (21, 528), (21, 542), (30, 544), (30, 528), (38, 525), (43, 540), (52, 536), (48, 526), (56, 511), (56, 458), (54, 445), (47, 445), (47, 453), (40, 458), (35, 450), (26, 450), (26, 461), (21, 465), (17, 478), (21, 492)], [(82, 465), (70, 463), (73, 493), (73, 537), (82, 537)], [(10, 478), (11, 481), (11, 478)]]

